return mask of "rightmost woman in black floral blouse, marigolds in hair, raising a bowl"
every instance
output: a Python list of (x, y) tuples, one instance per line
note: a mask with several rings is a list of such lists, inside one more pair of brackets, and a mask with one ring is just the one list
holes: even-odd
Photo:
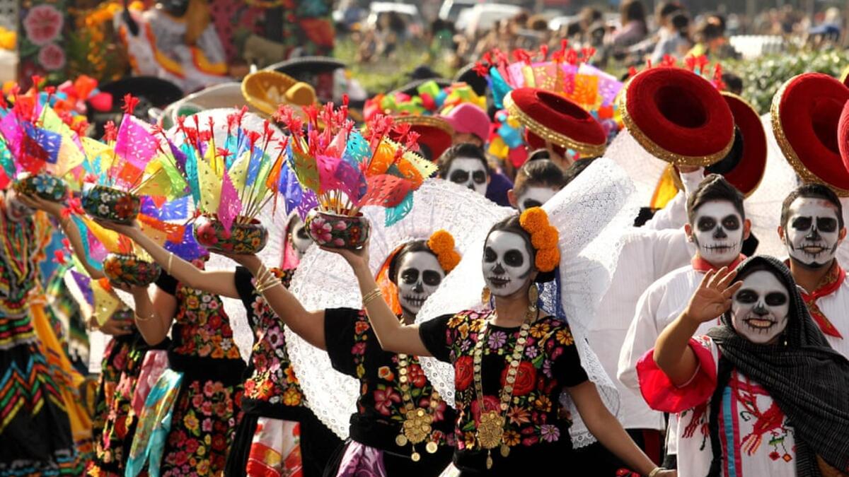
[[(457, 450), (461, 475), (515, 475), (556, 469), (571, 454), (570, 423), (559, 418), (561, 390), (569, 390), (599, 441), (641, 474), (656, 469), (621, 429), (588, 382), (568, 325), (537, 309), (529, 290), (554, 279), (559, 262), (557, 229), (531, 208), (492, 227), (484, 250), (484, 278), (495, 309), (462, 311), (420, 325), (399, 323), (379, 300), (369, 301), (369, 321), (385, 350), (434, 356), (453, 364)], [(538, 246), (537, 246), (538, 245)], [(361, 292), (375, 288), (368, 250), (340, 250)]]

